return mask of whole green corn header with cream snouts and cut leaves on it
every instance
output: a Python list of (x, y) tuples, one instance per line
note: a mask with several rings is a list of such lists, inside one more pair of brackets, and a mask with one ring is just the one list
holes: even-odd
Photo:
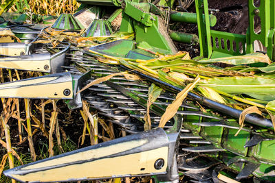
[[(217, 17), (207, 0), (195, 0), (195, 12), (181, 0), (78, 2), (80, 10), (61, 14), (52, 30), (1, 24), (0, 67), (45, 74), (1, 83), (0, 97), (64, 99), (71, 110), (85, 101), (129, 135), (5, 175), (19, 182), (275, 181), (274, 0), (248, 0), (246, 34), (211, 29)], [(172, 31), (173, 22), (197, 24), (198, 32)], [(199, 56), (191, 60), (174, 42), (199, 45)]]

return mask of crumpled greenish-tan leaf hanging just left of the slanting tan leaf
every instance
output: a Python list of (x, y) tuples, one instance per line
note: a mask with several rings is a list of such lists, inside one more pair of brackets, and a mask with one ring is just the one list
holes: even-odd
[(144, 115), (144, 130), (151, 130), (151, 119), (150, 119), (150, 106), (155, 102), (157, 97), (159, 97), (160, 93), (162, 93), (162, 88), (156, 86), (155, 84), (151, 84), (148, 89), (148, 99), (147, 99), (147, 109), (146, 114)]

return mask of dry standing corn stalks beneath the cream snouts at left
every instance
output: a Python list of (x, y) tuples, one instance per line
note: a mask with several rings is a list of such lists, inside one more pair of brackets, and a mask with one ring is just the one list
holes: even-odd
[[(42, 75), (42, 73), (37, 72), (19, 72), (10, 69), (0, 69), (0, 71), (1, 82)], [(113, 125), (111, 123), (107, 125), (103, 119), (98, 118), (97, 112), (89, 107), (87, 101), (83, 101), (83, 110), (75, 110), (74, 114), (79, 114), (83, 117), (78, 117), (80, 127), (83, 127), (83, 130), (78, 129), (78, 132), (74, 132), (79, 134), (79, 139), (82, 138), (81, 143), (79, 143), (81, 147), (115, 138)], [(0, 140), (0, 150), (3, 156), (0, 158), (0, 177), (4, 168), (20, 165), (14, 164), (15, 160), (23, 164), (18, 154), (29, 154), (28, 151), (21, 150), (23, 147), (30, 149), (28, 162), (29, 159), (35, 161), (61, 154), (65, 151), (72, 151), (72, 148), (67, 148), (66, 142), (69, 132), (64, 130), (64, 128), (65, 124), (76, 123), (74, 114), (67, 109), (63, 101), (2, 98), (0, 101), (0, 139), (3, 140)], [(81, 121), (84, 123), (81, 123)], [(90, 138), (85, 139), (85, 136)], [(43, 141), (38, 141), (41, 138)], [(45, 145), (43, 150), (40, 150), (39, 143)], [(77, 140), (74, 143), (77, 144)], [(47, 156), (41, 157), (41, 154), (47, 154)]]

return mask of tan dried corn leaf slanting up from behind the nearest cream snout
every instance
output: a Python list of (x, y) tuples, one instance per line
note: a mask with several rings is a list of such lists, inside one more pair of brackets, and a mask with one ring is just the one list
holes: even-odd
[(179, 106), (181, 106), (182, 102), (187, 97), (188, 92), (196, 86), (197, 82), (199, 82), (198, 76), (193, 83), (188, 84), (184, 90), (181, 90), (181, 92), (177, 94), (176, 99), (167, 106), (164, 114), (162, 115), (162, 118), (159, 121), (159, 127), (164, 127), (167, 121), (177, 113)]

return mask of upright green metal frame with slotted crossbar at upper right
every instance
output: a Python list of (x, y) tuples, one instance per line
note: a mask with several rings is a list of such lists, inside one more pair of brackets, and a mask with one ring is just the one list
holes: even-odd
[[(267, 48), (267, 56), (275, 60), (275, 1), (261, 0), (256, 7), (253, 0), (248, 0), (249, 22), (246, 35), (219, 32), (210, 29), (208, 1), (195, 0), (197, 24), (200, 40), (200, 58), (221, 58), (225, 56), (241, 56), (254, 52), (254, 41), (259, 40)], [(203, 14), (206, 19), (203, 20)], [(254, 31), (254, 19), (261, 19), (261, 32)]]

